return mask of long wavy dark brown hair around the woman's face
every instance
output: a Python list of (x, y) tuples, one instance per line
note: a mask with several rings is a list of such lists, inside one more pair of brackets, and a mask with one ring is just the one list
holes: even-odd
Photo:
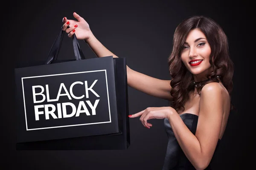
[[(209, 81), (201, 83), (201, 87), (198, 88), (198, 94), (201, 94), (204, 85), (210, 82), (219, 82), (216, 78), (219, 75), (231, 99), (234, 64), (230, 59), (227, 36), (218, 23), (211, 18), (192, 16), (183, 20), (175, 29), (172, 53), (168, 58), (169, 72), (172, 77), (170, 83), (172, 87), (170, 93), (173, 97), (172, 107), (176, 111), (184, 111), (184, 105), (189, 99), (189, 92), (195, 89), (192, 85), (193, 74), (186, 68), (180, 57), (189, 31), (195, 28), (202, 31), (209, 42), (211, 48), (209, 62), (213, 68), (213, 71), (207, 75)], [(230, 102), (230, 110), (233, 110), (232, 102)]]

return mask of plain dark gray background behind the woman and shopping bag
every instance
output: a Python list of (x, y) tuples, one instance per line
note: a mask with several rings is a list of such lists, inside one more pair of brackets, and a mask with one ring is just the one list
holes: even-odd
[[(232, 100), (238, 112), (231, 112), (220, 149), (214, 157), (216, 170), (248, 169), (253, 163), (254, 121), (252, 81), (255, 47), (250, 4), (234, 1), (99, 1), (38, 0), (6, 1), (2, 6), (2, 111), (1, 145), (3, 169), (26, 170), (161, 170), (167, 136), (163, 119), (143, 127), (139, 118), (130, 119), (131, 146), (128, 150), (16, 151), (14, 112), (14, 68), (26, 62), (46, 59), (62, 18), (73, 18), (76, 11), (90, 25), (95, 36), (119, 57), (126, 57), (130, 68), (159, 79), (170, 79), (167, 58), (172, 50), (176, 26), (184, 18), (205, 15), (219, 23), (227, 34), (230, 56), (235, 63)], [(96, 57), (81, 41), (88, 58)], [(61, 59), (73, 56), (72, 41), (64, 36)], [(10, 66), (6, 66), (6, 65)], [(147, 107), (168, 105), (140, 91), (129, 88), (131, 114)], [(9, 97), (9, 98), (8, 98)], [(5, 103), (3, 103), (3, 101)], [(8, 106), (8, 105), (9, 106)], [(251, 156), (252, 155), (252, 156)]]

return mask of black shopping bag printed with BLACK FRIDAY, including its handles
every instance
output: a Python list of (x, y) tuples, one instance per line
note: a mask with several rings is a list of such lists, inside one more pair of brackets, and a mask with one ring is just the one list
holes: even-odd
[(58, 60), (15, 69), (17, 150), (116, 150), (130, 144), (125, 58)]

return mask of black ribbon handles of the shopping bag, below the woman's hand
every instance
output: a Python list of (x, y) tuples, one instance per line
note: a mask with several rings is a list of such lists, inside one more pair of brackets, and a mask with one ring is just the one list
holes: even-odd
[[(56, 60), (58, 58), (58, 52), (61, 48), (63, 35), (64, 35), (64, 31), (62, 30), (62, 27), (61, 27), (61, 30), (58, 36), (55, 38), (55, 41), (52, 44), (52, 47), (49, 51), (45, 64), (51, 64), (53, 60)], [(84, 54), (81, 51), (78, 40), (76, 38), (76, 34), (73, 34), (72, 39), (73, 39), (73, 48), (74, 48), (76, 60), (85, 59)]]

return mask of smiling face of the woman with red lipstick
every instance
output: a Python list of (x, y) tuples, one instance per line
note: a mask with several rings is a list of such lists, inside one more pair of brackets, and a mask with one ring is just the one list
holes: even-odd
[(189, 32), (181, 51), (181, 60), (195, 75), (206, 75), (211, 67), (211, 48), (203, 32), (193, 29)]

